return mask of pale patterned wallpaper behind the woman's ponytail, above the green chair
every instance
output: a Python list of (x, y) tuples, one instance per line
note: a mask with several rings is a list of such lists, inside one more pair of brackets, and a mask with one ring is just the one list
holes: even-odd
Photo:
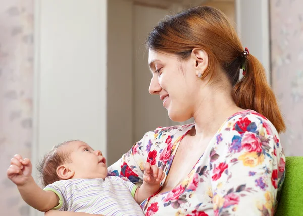
[(303, 1), (271, 0), (272, 86), (287, 123), (287, 156), (303, 156)]

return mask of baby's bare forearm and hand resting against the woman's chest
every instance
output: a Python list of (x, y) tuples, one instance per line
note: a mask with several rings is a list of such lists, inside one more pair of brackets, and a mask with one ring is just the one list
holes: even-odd
[(162, 169), (156, 165), (150, 166), (150, 163), (145, 164), (145, 171), (143, 176), (143, 184), (139, 187), (135, 193), (135, 200), (137, 203), (143, 202), (145, 199), (155, 194), (159, 188), (160, 183), (165, 177), (165, 173)]

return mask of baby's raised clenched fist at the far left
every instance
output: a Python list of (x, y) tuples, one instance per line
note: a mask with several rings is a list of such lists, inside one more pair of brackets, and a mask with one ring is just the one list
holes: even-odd
[(7, 170), (7, 176), (17, 186), (24, 185), (31, 177), (32, 164), (28, 158), (23, 159), (21, 155), (15, 155), (11, 159), (11, 166)]

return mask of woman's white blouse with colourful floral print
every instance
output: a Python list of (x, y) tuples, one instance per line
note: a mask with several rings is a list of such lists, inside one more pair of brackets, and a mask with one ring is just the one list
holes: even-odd
[[(109, 167), (109, 175), (140, 186), (145, 162), (167, 175), (192, 127), (159, 127), (146, 133)], [(186, 179), (172, 191), (146, 199), (141, 208), (148, 216), (273, 215), (284, 175), (285, 156), (275, 127), (259, 113), (245, 110), (224, 122)]]

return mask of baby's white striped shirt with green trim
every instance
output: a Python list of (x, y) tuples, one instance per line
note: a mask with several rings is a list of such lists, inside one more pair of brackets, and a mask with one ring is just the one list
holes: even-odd
[(144, 215), (134, 200), (138, 187), (120, 177), (98, 179), (69, 179), (47, 185), (59, 197), (61, 211), (85, 212), (103, 215)]

